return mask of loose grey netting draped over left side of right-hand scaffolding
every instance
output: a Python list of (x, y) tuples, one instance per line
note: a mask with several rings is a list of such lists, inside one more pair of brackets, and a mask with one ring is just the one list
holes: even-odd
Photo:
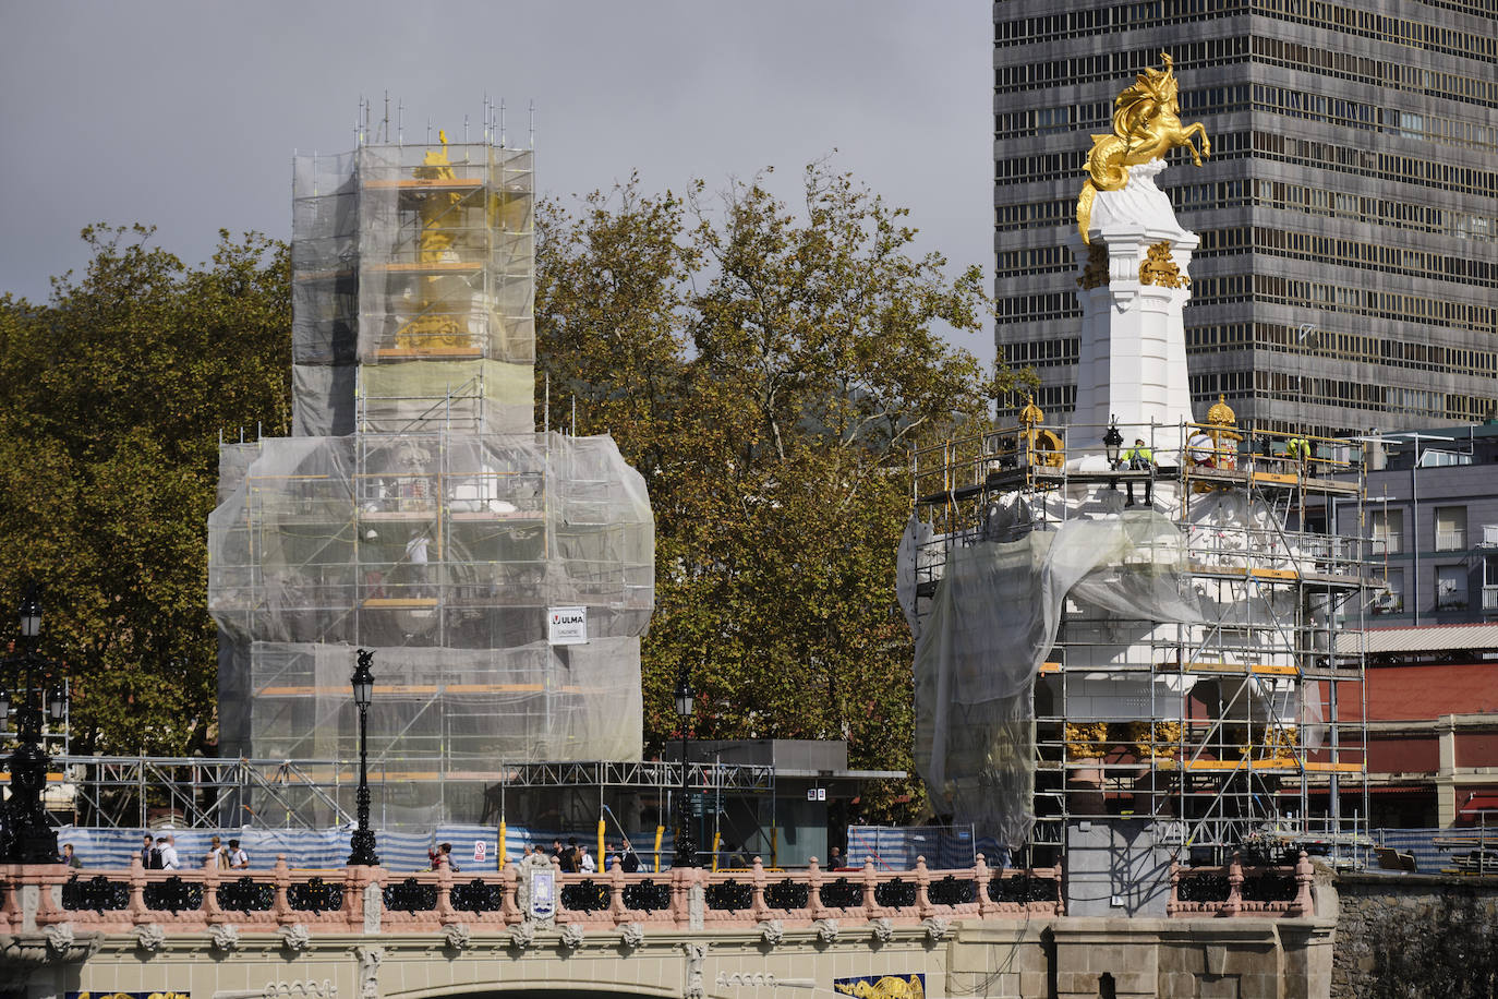
[(915, 767), (936, 810), (1020, 846), (1035, 821), (1034, 680), (1065, 599), (1197, 622), (1188, 581), (1185, 539), (1153, 512), (953, 551), (915, 647)]

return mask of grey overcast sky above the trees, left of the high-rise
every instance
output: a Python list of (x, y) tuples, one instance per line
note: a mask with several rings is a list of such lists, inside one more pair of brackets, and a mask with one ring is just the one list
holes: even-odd
[[(511, 145), (536, 103), (536, 184), (638, 169), (647, 190), (837, 150), (911, 210), (921, 250), (992, 273), (992, 13), (980, 0), (78, 3), (0, 0), (0, 292), (48, 295), (93, 222), (157, 226), (190, 264), (219, 228), (291, 235), (294, 150), (354, 144), (388, 90), (406, 136)], [(992, 358), (992, 331), (962, 346)]]

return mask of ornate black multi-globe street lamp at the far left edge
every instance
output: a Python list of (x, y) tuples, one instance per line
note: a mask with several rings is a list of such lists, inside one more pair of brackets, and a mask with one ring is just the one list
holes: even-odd
[(46, 821), (42, 791), (46, 788), (46, 750), (42, 749), (42, 714), (61, 722), (67, 693), (54, 664), (36, 655), (42, 634), (42, 604), (36, 587), (21, 601), (21, 655), (4, 661), (0, 690), (0, 720), (16, 714), (16, 747), (10, 753), (10, 800), (4, 809), (3, 857), (12, 864), (55, 864), (57, 830)]

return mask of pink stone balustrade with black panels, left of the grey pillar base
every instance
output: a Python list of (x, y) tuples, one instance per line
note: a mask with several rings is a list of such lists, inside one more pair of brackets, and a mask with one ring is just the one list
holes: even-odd
[[(1019, 920), (1062, 915), (1061, 869), (993, 870), (980, 855), (966, 870), (706, 872), (677, 869), (626, 875), (616, 863), (596, 875), (563, 875), (554, 921), (578, 929), (640, 924), (659, 929), (745, 929), (773, 932), (836, 926), (837, 920), (887, 920), (888, 926), (933, 920)], [(237, 933), (277, 933), (301, 926), (324, 933), (473, 932), (524, 921), (526, 888), (514, 864), (502, 872), (451, 870), (403, 875), (383, 867), (294, 870), (279, 855), (271, 870), (78, 872), (58, 864), (0, 869), (0, 933), (67, 924), (75, 932), (123, 933), (154, 924), (165, 933), (202, 933), (232, 926)]]

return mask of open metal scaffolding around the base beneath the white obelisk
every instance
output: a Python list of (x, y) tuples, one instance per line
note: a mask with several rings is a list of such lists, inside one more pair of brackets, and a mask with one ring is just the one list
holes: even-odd
[[(1381, 583), (1368, 542), (1330, 533), (1338, 505), (1363, 524), (1357, 445), (1240, 431), (1225, 406), (1116, 430), (1146, 442), (1134, 467), (1109, 428), (1038, 410), (914, 454), (899, 578), (938, 812), (1061, 852), (1073, 822), (1119, 818), (1182, 855), (1365, 845)], [(1055, 620), (1004, 632), (1007, 601)], [(1010, 644), (1014, 683), (993, 689)]]

